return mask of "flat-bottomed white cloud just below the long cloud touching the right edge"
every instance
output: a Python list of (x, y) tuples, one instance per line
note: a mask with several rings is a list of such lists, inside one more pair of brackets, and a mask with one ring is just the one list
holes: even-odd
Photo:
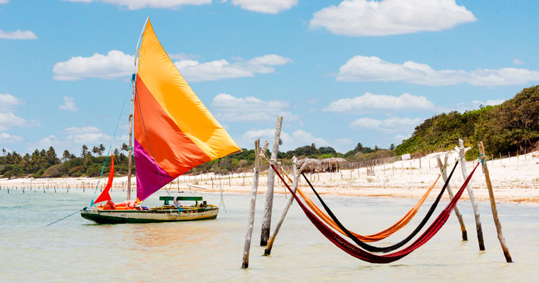
[(364, 95), (339, 99), (331, 102), (322, 111), (329, 112), (354, 112), (376, 110), (433, 110), (434, 104), (426, 97), (403, 93), (399, 97), (391, 95), (373, 95), (365, 92)]

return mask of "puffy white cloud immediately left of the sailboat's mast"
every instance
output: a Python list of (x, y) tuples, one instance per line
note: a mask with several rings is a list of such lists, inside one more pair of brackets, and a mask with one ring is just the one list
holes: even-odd
[(127, 78), (133, 72), (134, 56), (122, 51), (108, 51), (107, 55), (76, 56), (54, 64), (52, 72), (58, 81), (76, 81), (84, 78)]

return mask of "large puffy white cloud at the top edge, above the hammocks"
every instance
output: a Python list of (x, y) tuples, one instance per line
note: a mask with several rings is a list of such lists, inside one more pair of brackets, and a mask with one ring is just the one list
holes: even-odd
[(455, 0), (345, 0), (314, 13), (310, 28), (347, 36), (383, 36), (442, 31), (476, 20)]

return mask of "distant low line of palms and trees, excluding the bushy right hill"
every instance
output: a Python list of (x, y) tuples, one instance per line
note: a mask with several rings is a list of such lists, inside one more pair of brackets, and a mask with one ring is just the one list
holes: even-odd
[[(394, 148), (394, 145), (391, 147)], [(98, 177), (102, 172), (106, 174), (110, 170), (110, 158), (106, 154), (104, 145), (97, 145), (90, 148), (82, 145), (80, 155), (75, 156), (69, 150), (64, 150), (62, 157), (58, 158), (54, 147), (48, 150), (35, 149), (33, 154), (21, 156), (17, 152), (7, 152), (3, 149), (3, 156), (0, 156), (0, 175), (4, 178), (14, 177)], [(114, 155), (115, 175), (127, 175), (129, 147), (124, 143), (122, 147), (112, 150)], [(394, 151), (382, 149), (378, 146), (374, 148), (364, 147), (357, 143), (356, 147), (345, 154), (337, 152), (332, 147), (316, 147), (305, 145), (288, 152), (279, 152), (277, 160), (284, 165), (290, 165), (292, 156), (299, 159), (314, 158), (325, 159), (330, 157), (341, 157), (348, 161), (362, 161), (364, 159), (376, 159), (387, 156), (394, 156)], [(271, 156), (269, 149), (266, 149), (266, 156)], [(105, 163), (106, 161), (106, 163)], [(263, 161), (267, 164), (267, 161)], [(103, 164), (105, 163), (105, 166)], [(133, 159), (134, 164), (134, 159)], [(230, 172), (248, 172), (255, 164), (255, 149), (243, 148), (241, 152), (225, 156), (221, 159), (209, 161), (186, 172), (186, 174), (198, 174), (200, 172), (215, 172), (228, 174)], [(135, 166), (132, 168), (135, 173)]]

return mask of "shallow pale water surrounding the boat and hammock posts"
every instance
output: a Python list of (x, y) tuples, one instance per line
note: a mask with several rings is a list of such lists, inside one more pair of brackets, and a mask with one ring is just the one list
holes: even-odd
[[(224, 195), (225, 209), (216, 220), (190, 223), (95, 225), (74, 215), (45, 226), (85, 207), (93, 192), (80, 189), (0, 190), (0, 282), (525, 282), (539, 275), (539, 206), (498, 204), (504, 236), (513, 257), (507, 264), (492, 223), (488, 202), (480, 202), (486, 252), (479, 252), (472, 206), (459, 202), (469, 241), (460, 241), (454, 215), (431, 239), (392, 264), (369, 264), (336, 248), (294, 204), (273, 245), (270, 257), (259, 247), (265, 195), (257, 196), (250, 268), (241, 268), (249, 195)], [(175, 195), (176, 193), (173, 193)], [(114, 190), (113, 200), (124, 193)], [(159, 192), (145, 202), (158, 205)], [(202, 195), (220, 203), (216, 193)], [(345, 225), (360, 234), (385, 229), (412, 207), (415, 200), (374, 197), (323, 196)], [(447, 204), (445, 199), (435, 215)], [(430, 206), (432, 200), (427, 200)], [(275, 195), (273, 225), (280, 216), (284, 195)], [(378, 243), (400, 241), (419, 223), (417, 219)]]

